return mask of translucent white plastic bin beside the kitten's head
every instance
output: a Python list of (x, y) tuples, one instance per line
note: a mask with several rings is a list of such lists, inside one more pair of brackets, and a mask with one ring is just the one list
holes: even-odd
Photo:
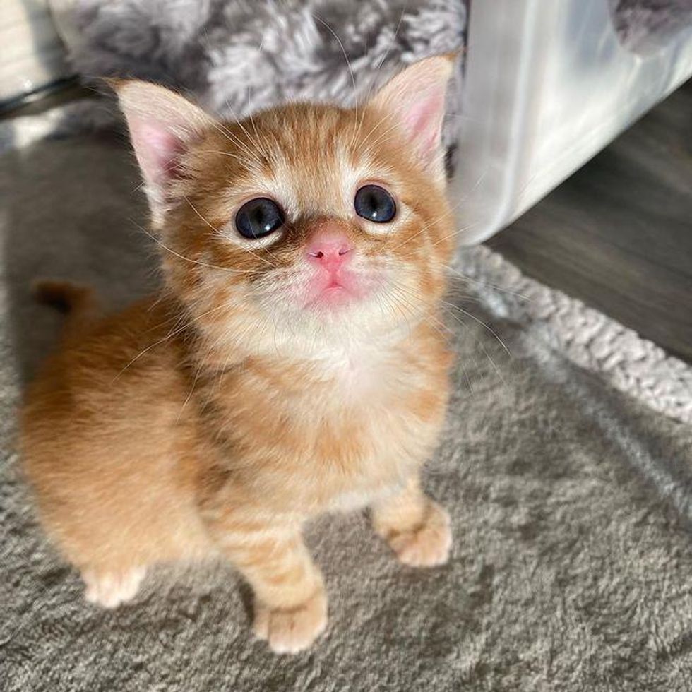
[(624, 47), (607, 0), (475, 0), (451, 182), (462, 244), (490, 237), (692, 75), (692, 25)]

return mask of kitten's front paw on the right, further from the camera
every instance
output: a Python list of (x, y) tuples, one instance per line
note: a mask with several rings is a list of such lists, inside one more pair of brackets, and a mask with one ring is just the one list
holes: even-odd
[(452, 545), (449, 515), (430, 501), (423, 523), (412, 531), (390, 532), (386, 536), (400, 562), (411, 567), (434, 567), (446, 563)]

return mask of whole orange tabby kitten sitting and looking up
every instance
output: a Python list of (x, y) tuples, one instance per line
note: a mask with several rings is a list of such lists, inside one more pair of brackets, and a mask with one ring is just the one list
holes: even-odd
[(326, 626), (306, 520), (369, 506), (400, 561), (446, 561), (422, 491), (451, 357), (440, 127), (451, 59), (359, 109), (295, 104), (219, 122), (116, 84), (162, 248), (165, 291), (98, 316), (87, 290), (30, 387), (23, 458), (86, 597), (115, 607), (153, 563), (225, 556), (276, 652)]

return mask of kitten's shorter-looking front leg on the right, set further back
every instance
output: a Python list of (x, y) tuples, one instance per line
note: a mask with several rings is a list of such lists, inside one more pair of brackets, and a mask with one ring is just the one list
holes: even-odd
[(417, 478), (397, 495), (373, 507), (373, 525), (398, 559), (414, 567), (432, 567), (447, 561), (452, 542), (449, 515), (427, 497)]

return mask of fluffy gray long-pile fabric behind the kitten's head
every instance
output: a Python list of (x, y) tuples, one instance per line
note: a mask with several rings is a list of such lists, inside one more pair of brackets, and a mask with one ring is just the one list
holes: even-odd
[[(289, 100), (362, 102), (402, 66), (463, 46), (463, 0), (78, 0), (68, 18), (78, 73), (137, 77), (234, 119)], [(461, 61), (443, 141), (458, 139)], [(100, 126), (102, 110), (71, 121)]]

